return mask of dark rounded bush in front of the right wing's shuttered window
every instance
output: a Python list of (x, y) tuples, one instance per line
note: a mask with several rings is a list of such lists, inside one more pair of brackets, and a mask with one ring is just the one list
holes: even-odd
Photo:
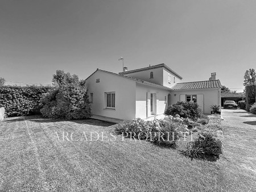
[(168, 106), (164, 114), (172, 116), (179, 114), (181, 118), (197, 119), (201, 116), (202, 112), (197, 103), (177, 102), (174, 105)]

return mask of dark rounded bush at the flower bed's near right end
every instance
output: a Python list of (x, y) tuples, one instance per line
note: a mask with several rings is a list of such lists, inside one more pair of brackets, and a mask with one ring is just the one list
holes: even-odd
[(220, 158), (223, 151), (222, 131), (201, 132), (199, 139), (195, 141), (195, 147), (202, 148), (205, 155)]

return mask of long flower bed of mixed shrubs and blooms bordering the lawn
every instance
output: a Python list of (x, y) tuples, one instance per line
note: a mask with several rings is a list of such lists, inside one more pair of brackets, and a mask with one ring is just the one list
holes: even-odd
[(145, 140), (171, 147), (177, 147), (180, 137), (184, 137), (185, 141), (185, 138), (191, 135), (188, 139), (191, 141), (182, 153), (192, 159), (205, 156), (218, 159), (223, 151), (220, 115), (203, 116), (195, 121), (180, 118), (179, 115), (148, 121), (137, 118), (117, 124), (115, 132), (123, 138)]

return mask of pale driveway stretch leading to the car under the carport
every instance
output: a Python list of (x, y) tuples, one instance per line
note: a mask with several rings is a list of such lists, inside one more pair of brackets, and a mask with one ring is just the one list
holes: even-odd
[(224, 118), (222, 125), (240, 128), (251, 128), (256, 130), (256, 115), (241, 109), (222, 109), (221, 115)]

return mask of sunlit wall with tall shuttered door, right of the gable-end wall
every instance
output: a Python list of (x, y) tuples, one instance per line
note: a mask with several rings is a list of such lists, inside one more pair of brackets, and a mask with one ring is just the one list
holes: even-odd
[[(171, 91), (136, 83), (136, 118), (146, 119), (150, 116), (150, 102), (147, 106), (147, 94), (156, 93), (156, 115), (163, 114), (167, 108), (168, 94)], [(166, 97), (166, 101), (165, 101)], [(149, 98), (150, 101), (150, 98)], [(148, 115), (148, 116), (147, 116)]]

